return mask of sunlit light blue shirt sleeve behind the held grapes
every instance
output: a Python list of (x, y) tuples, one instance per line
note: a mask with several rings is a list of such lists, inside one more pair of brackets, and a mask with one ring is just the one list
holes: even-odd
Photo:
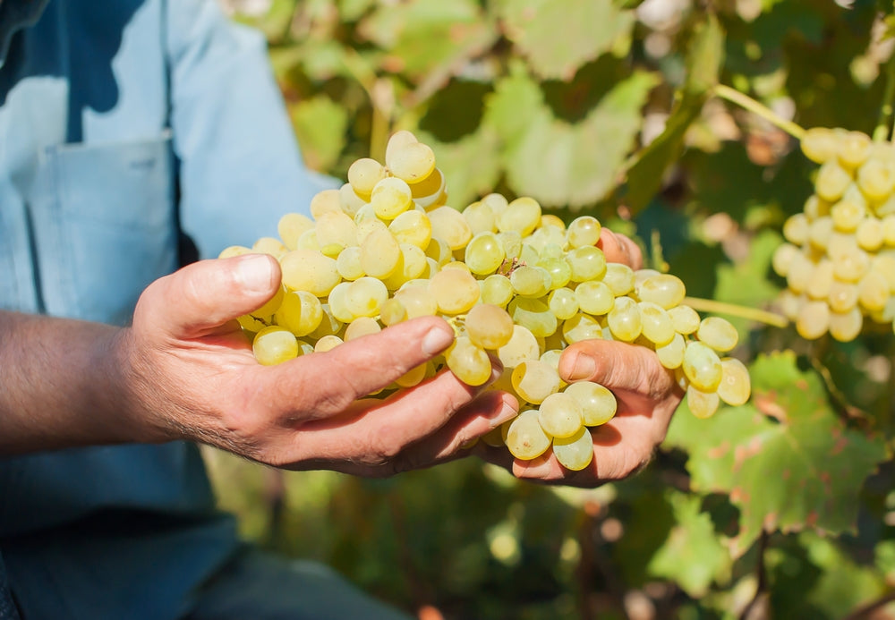
[(169, 0), (166, 20), (181, 225), (214, 258), (276, 236), (280, 217), (307, 215), (338, 183), (303, 165), (260, 32), (215, 0)]

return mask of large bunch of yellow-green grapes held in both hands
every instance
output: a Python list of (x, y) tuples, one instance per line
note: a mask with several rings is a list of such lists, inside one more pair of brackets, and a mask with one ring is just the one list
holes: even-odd
[(438, 315), (455, 328), (455, 342), (380, 393), (415, 386), (445, 367), (480, 386), (496, 356), (504, 372), (490, 388), (511, 392), (523, 406), (483, 440), (524, 460), (552, 450), (569, 470), (591, 463), (590, 429), (611, 420), (617, 402), (605, 386), (559, 377), (568, 344), (604, 338), (649, 347), (676, 373), (700, 417), (721, 401), (749, 398), (746, 366), (722, 357), (736, 346), (737, 330), (683, 305), (678, 277), (607, 263), (596, 247), (596, 218), (566, 226), (532, 198), (508, 201), (497, 193), (462, 211), (446, 201), (430, 147), (397, 132), (384, 165), (355, 161), (347, 183), (311, 201), (310, 218), (286, 214), (278, 238), (224, 251), (268, 252), (282, 267), (282, 289), (240, 318), (256, 359), (277, 364)]

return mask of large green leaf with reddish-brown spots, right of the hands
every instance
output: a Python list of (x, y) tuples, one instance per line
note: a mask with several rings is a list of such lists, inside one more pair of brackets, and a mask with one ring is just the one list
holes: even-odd
[(831, 410), (823, 381), (797, 368), (793, 352), (762, 355), (750, 367), (751, 404), (709, 420), (675, 416), (669, 446), (689, 453), (697, 492), (726, 492), (740, 509), (737, 555), (761, 531), (852, 531), (858, 492), (887, 458), (880, 437), (848, 429)]

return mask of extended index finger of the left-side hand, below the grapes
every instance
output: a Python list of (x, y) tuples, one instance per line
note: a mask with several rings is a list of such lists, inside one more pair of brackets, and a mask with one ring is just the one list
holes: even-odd
[[(431, 360), (453, 341), (454, 330), (443, 318), (413, 318), (339, 344), (328, 352), (261, 368), (264, 378), (260, 380), (275, 390), (281, 406), (294, 406), (298, 399), (311, 401), (311, 410), (303, 415), (326, 418)], [(465, 386), (459, 379), (456, 382)]]

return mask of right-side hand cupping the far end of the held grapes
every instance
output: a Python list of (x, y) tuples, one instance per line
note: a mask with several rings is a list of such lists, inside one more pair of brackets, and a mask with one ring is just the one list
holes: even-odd
[[(624, 234), (603, 228), (597, 246), (610, 262), (625, 263), (633, 269), (643, 267), (639, 246)], [(593, 460), (588, 467), (569, 471), (551, 451), (531, 461), (514, 459), (505, 446), (486, 446), (483, 442), (473, 452), (525, 480), (597, 487), (627, 478), (650, 462), (684, 396), (674, 373), (661, 365), (655, 352), (635, 344), (609, 340), (571, 344), (560, 358), (559, 375), (568, 382), (599, 383), (618, 400), (616, 416), (591, 429)]]

